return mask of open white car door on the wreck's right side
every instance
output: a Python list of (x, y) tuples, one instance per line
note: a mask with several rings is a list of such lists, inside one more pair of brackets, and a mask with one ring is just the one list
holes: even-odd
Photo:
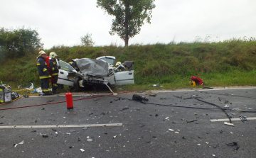
[(114, 76), (116, 79), (115, 85), (134, 84), (134, 62), (125, 61), (123, 65), (128, 70), (122, 72), (114, 72)]

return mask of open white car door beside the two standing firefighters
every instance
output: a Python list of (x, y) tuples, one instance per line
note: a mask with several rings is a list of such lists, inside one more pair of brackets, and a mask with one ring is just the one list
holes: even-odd
[(60, 67), (58, 72), (58, 81), (57, 84), (64, 84), (68, 86), (74, 85), (75, 74), (78, 72), (70, 66), (67, 62), (62, 60), (58, 61), (58, 66)]

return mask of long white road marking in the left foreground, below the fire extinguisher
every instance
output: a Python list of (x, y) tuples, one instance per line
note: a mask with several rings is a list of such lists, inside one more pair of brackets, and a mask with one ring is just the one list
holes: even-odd
[(121, 126), (122, 123), (108, 124), (89, 124), (89, 125), (8, 125), (0, 126), (1, 128), (85, 128), (85, 127), (105, 127), (105, 126)]

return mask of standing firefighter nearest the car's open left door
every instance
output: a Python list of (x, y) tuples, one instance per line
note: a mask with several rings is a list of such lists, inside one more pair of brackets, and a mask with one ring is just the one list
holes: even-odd
[(52, 88), (53, 88), (53, 94), (59, 94), (60, 92), (57, 91), (58, 88), (58, 65), (56, 62), (56, 58), (58, 55), (56, 55), (55, 52), (50, 52), (50, 58), (49, 58), (49, 66), (50, 66), (50, 72), (52, 75)]

